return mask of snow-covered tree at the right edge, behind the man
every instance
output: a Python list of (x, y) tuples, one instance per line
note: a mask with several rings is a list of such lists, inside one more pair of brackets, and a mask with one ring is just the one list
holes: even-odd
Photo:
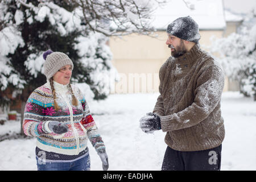
[(237, 33), (214, 40), (211, 51), (220, 53), (226, 76), (238, 80), (240, 92), (256, 101), (256, 14), (245, 17)]

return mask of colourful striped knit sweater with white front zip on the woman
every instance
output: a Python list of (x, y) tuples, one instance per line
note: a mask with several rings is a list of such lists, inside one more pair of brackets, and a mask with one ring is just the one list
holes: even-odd
[[(23, 120), (24, 133), (37, 137), (36, 146), (48, 152), (77, 155), (85, 150), (88, 138), (97, 153), (105, 152), (104, 142), (80, 89), (71, 85), (79, 101), (79, 105), (74, 106), (68, 85), (53, 82), (53, 86), (60, 110), (54, 109), (52, 90), (47, 81), (46, 84), (35, 89), (27, 100)], [(67, 133), (52, 133), (48, 128), (50, 121), (65, 123), (68, 126)]]

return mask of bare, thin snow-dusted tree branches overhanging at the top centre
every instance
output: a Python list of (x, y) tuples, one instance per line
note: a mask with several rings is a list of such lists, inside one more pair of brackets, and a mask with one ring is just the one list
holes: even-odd
[[(148, 2), (137, 0), (72, 0), (82, 11), (85, 31), (101, 32), (106, 36), (138, 32), (150, 34), (148, 25), (153, 8)], [(150, 1), (153, 2), (153, 1)], [(160, 5), (164, 0), (155, 0)], [(136, 18), (136, 15), (138, 18)], [(114, 26), (113, 26), (114, 25)]]

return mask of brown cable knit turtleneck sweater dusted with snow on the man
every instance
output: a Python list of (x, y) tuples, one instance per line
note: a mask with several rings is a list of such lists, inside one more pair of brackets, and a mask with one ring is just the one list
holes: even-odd
[(219, 146), (225, 136), (220, 110), (221, 66), (196, 44), (183, 56), (170, 57), (159, 77), (160, 96), (153, 113), (160, 116), (167, 145), (178, 151)]

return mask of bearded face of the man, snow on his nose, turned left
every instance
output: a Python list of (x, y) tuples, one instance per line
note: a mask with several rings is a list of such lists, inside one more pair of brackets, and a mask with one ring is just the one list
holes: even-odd
[(171, 55), (173, 57), (179, 57), (184, 55), (187, 52), (187, 49), (183, 43), (183, 40), (177, 38), (176, 36), (168, 34), (168, 39), (166, 40), (166, 44), (169, 48), (171, 48)]

